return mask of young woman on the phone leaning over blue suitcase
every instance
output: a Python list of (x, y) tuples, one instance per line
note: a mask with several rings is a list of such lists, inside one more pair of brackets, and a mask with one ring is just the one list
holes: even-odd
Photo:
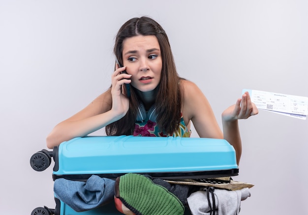
[[(112, 86), (59, 123), (47, 137), (49, 148), (103, 127), (107, 135), (189, 137), (192, 122), (201, 138), (224, 138), (232, 144), (239, 163), (238, 119), (258, 113), (248, 93), (223, 111), (221, 132), (201, 90), (179, 77), (168, 37), (153, 19), (127, 21), (118, 32), (114, 53), (123, 67), (116, 64)], [(125, 84), (130, 85), (129, 96)]]

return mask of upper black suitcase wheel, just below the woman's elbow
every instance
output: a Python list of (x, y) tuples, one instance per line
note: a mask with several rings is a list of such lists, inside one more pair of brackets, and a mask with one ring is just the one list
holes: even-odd
[(46, 170), (51, 163), (51, 156), (48, 151), (43, 149), (34, 153), (30, 159), (30, 165), (35, 171), (44, 171)]

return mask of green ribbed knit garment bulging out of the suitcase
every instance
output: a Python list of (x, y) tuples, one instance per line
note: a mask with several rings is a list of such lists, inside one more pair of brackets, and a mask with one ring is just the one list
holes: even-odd
[(115, 195), (136, 215), (184, 215), (184, 206), (174, 194), (139, 174), (118, 177)]

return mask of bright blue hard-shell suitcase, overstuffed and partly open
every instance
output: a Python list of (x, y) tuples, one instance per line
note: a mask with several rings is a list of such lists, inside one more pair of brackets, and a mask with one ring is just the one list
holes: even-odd
[[(61, 143), (31, 156), (31, 167), (43, 171), (55, 161), (53, 179), (86, 181), (92, 175), (116, 179), (126, 173), (159, 179), (204, 179), (236, 176), (233, 146), (206, 138), (89, 136)], [(56, 208), (39, 207), (31, 215), (115, 215), (114, 204), (77, 213), (55, 196)]]

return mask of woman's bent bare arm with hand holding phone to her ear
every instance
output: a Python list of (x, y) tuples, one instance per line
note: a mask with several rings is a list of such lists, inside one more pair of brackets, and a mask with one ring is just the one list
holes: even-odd
[[(98, 96), (91, 104), (62, 121), (47, 136), (48, 148), (53, 148), (75, 137), (84, 137), (98, 129), (121, 119), (128, 111), (129, 101), (123, 95), (123, 83), (129, 83), (129, 74), (117, 68), (112, 75), (112, 88)], [(123, 79), (124, 78), (124, 79)]]

